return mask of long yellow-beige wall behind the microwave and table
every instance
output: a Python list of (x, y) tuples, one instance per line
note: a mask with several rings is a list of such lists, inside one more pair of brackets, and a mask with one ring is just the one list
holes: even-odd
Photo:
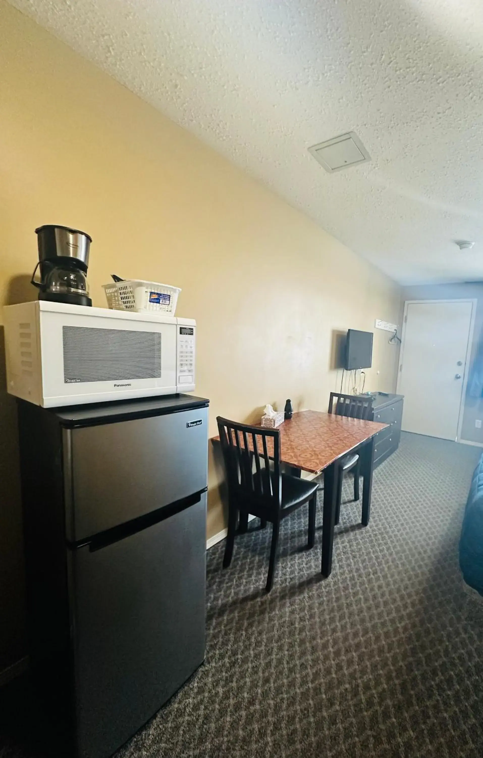
[[(216, 416), (266, 402), (326, 409), (335, 337), (397, 320), (400, 290), (300, 212), (234, 168), (0, 0), (0, 302), (33, 299), (39, 224), (92, 235), (89, 284), (111, 273), (182, 287), (198, 320), (197, 393)], [(393, 390), (396, 350), (375, 334), (366, 388)], [(376, 371), (380, 371), (380, 375)], [(14, 402), (2, 382), (0, 669), (25, 649)], [(210, 459), (208, 534), (223, 528)]]

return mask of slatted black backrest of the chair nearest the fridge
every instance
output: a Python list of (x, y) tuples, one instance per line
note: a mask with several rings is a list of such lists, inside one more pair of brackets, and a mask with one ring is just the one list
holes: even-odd
[(282, 471), (278, 429), (217, 418), (230, 494), (259, 506), (281, 507)]

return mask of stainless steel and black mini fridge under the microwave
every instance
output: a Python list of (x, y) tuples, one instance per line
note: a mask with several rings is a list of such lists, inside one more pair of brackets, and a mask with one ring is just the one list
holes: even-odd
[(66, 754), (110, 756), (203, 662), (207, 406), (19, 402), (30, 662)]

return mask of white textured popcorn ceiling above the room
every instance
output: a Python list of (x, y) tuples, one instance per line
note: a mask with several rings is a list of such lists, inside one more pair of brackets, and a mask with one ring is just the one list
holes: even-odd
[[(13, 5), (391, 277), (483, 278), (481, 0)], [(349, 130), (372, 161), (327, 174)]]

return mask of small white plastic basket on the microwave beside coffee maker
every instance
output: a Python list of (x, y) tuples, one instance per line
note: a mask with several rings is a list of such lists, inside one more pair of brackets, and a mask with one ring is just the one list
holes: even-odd
[(179, 287), (158, 282), (129, 279), (123, 282), (103, 284), (102, 289), (108, 299), (108, 308), (115, 311), (135, 311), (136, 313), (175, 314), (176, 302), (181, 292)]

